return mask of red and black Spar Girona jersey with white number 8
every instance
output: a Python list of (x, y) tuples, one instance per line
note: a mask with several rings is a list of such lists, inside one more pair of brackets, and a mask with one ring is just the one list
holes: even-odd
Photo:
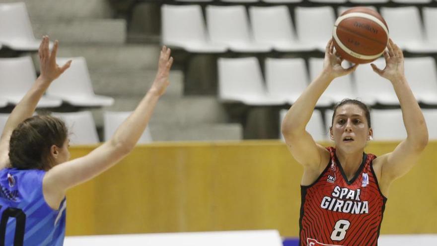
[(300, 246), (375, 246), (387, 199), (379, 190), (372, 167), (376, 158), (363, 155), (357, 173), (348, 180), (328, 147), (331, 160), (316, 181), (301, 186)]

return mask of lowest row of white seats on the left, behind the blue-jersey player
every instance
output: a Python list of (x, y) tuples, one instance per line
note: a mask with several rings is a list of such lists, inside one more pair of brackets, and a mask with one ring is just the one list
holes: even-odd
[[(104, 141), (109, 140), (131, 112), (104, 111)], [(72, 113), (52, 113), (52, 116), (61, 118), (66, 123), (72, 145), (97, 144), (100, 142), (97, 135), (94, 119), (90, 111), (79, 111)], [(9, 114), (0, 114), (0, 131), (3, 131)], [(152, 142), (150, 130), (147, 127), (138, 141), (139, 144)]]

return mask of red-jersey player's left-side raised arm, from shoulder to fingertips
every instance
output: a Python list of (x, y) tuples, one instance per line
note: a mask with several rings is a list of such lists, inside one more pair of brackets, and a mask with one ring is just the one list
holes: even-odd
[(314, 142), (305, 127), (311, 118), (317, 100), (332, 80), (353, 72), (357, 67), (355, 65), (344, 69), (341, 62), (342, 59), (336, 55), (333, 42), (330, 40), (325, 50), (322, 73), (303, 91), (282, 122), (281, 131), (287, 146), (294, 159), (304, 166), (305, 172), (308, 169), (318, 172), (323, 161), (322, 157), (325, 156), (325, 159), (329, 157), (328, 151)]

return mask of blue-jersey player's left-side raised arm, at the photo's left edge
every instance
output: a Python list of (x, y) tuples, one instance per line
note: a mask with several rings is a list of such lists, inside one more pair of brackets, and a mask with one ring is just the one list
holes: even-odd
[(20, 102), (14, 107), (6, 121), (0, 138), (0, 169), (10, 166), (9, 162), (9, 139), (12, 131), (25, 119), (32, 116), (35, 112), (38, 101), (43, 96), (49, 85), (66, 71), (71, 64), (67, 62), (59, 67), (56, 64), (56, 53), (58, 51), (58, 41), (55, 41), (52, 52), (49, 51), (49, 37), (44, 36), (38, 50), (41, 75), (27, 91)]

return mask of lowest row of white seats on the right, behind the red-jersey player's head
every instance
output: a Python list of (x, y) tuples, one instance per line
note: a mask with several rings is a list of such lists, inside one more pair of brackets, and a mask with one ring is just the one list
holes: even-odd
[[(280, 122), (287, 114), (287, 109), (280, 112)], [(428, 125), (430, 140), (437, 140), (437, 110), (422, 109), (425, 121)], [(306, 131), (311, 134), (315, 141), (328, 141), (329, 128), (331, 127), (333, 110), (314, 110), (311, 119), (306, 125)], [(400, 141), (407, 137), (402, 111), (400, 109), (372, 109), (370, 111), (372, 122), (373, 139), (375, 141)], [(284, 139), (284, 136), (281, 135)]]

